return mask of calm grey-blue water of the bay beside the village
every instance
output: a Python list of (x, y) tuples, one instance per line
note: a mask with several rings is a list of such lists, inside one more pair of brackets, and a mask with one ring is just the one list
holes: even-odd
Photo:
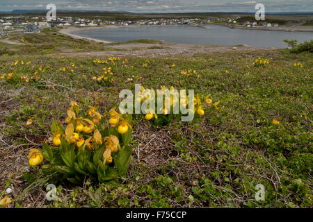
[(119, 27), (99, 28), (79, 31), (77, 35), (91, 37), (109, 42), (127, 42), (130, 40), (152, 39), (166, 42), (186, 44), (206, 44), (232, 46), (248, 44), (259, 47), (286, 47), (284, 39), (312, 40), (311, 32), (263, 31), (232, 29), (225, 26), (208, 25), (206, 28), (190, 26), (150, 26), (150, 27)]

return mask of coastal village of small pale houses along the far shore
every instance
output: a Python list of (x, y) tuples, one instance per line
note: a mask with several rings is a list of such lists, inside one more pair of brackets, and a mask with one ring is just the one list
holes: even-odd
[(47, 22), (46, 17), (32, 16), (4, 16), (0, 17), (0, 36), (8, 35), (9, 31), (23, 30), (24, 33), (40, 33), (43, 28), (69, 27), (69, 26), (204, 26), (205, 24), (224, 24), (225, 26), (278, 27), (278, 24), (268, 22), (237, 22), (241, 17), (233, 18), (177, 18), (177, 19), (129, 19), (129, 20), (104, 20), (88, 19), (84, 17), (58, 17), (55, 21)]

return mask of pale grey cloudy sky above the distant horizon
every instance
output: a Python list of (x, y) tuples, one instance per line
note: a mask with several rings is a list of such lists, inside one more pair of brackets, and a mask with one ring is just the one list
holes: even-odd
[(263, 3), (267, 12), (313, 12), (313, 0), (0, 0), (0, 11), (45, 10), (54, 3), (57, 10), (109, 10), (128, 12), (256, 12)]

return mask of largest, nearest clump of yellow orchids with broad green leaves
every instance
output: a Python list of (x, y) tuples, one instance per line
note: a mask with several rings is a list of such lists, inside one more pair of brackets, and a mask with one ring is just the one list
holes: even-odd
[(126, 173), (131, 157), (131, 121), (130, 114), (114, 108), (102, 115), (93, 106), (84, 112), (72, 101), (65, 121), (53, 121), (49, 143), (42, 151), (31, 148), (29, 164), (47, 160), (42, 171), (73, 183), (86, 176), (99, 182), (117, 180)]

